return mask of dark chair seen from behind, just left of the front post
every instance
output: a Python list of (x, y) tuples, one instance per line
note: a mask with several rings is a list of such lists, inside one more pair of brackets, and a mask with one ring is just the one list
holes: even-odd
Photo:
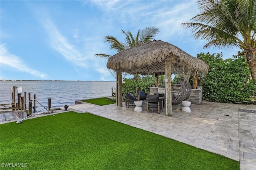
[(163, 98), (159, 98), (159, 95), (147, 95), (147, 112), (151, 109), (158, 109), (158, 114), (160, 110), (163, 111)]

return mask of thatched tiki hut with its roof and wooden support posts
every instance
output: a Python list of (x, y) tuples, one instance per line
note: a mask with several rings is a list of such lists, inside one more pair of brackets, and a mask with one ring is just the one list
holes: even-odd
[[(122, 50), (108, 59), (107, 68), (116, 72), (117, 93), (122, 92), (122, 73), (166, 75), (166, 116), (172, 115), (171, 75), (200, 75), (208, 72), (208, 65), (180, 48), (161, 40), (153, 40)], [(117, 95), (122, 106), (122, 93)]]

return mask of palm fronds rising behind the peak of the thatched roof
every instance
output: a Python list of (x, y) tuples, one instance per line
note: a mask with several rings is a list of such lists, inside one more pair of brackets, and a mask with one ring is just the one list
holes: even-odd
[[(117, 52), (120, 52), (124, 49), (129, 49), (138, 44), (149, 42), (153, 37), (159, 32), (159, 29), (156, 27), (146, 27), (142, 31), (138, 30), (136, 36), (134, 37), (130, 31), (125, 32), (121, 30), (123, 34), (126, 35), (125, 43), (119, 42), (113, 36), (105, 36), (104, 42), (110, 43), (110, 49), (116, 49)], [(95, 54), (94, 57), (111, 57), (108, 54)]]

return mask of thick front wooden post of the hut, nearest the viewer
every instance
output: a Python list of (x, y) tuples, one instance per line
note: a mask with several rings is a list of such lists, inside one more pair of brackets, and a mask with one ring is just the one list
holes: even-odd
[(165, 74), (168, 82), (166, 82), (166, 116), (172, 116), (172, 68), (171, 62), (165, 61)]

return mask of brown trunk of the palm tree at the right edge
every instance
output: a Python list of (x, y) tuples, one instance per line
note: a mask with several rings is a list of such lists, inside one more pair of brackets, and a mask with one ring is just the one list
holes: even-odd
[(245, 60), (252, 71), (252, 79), (256, 83), (256, 49), (247, 48), (244, 50)]

